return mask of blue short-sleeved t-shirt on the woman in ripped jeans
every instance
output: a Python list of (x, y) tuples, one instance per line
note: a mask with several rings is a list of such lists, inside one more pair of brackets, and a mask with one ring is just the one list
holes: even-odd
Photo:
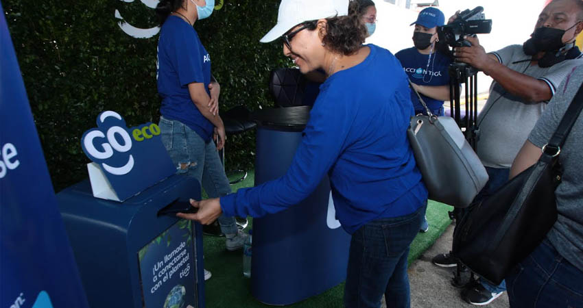
[(209, 142), (214, 125), (194, 105), (188, 85), (202, 83), (209, 93), (211, 56), (195, 29), (177, 16), (168, 16), (158, 40), (158, 94), (162, 97), (160, 114), (179, 120)]

